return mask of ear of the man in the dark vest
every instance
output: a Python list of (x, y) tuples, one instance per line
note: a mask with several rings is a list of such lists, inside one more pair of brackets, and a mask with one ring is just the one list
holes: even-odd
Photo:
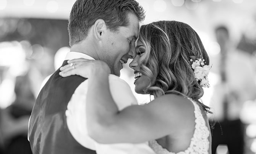
[(97, 40), (101, 40), (102, 35), (106, 32), (106, 30), (107, 30), (107, 26), (105, 24), (105, 21), (102, 19), (97, 19), (94, 23), (94, 28), (93, 28), (94, 37)]

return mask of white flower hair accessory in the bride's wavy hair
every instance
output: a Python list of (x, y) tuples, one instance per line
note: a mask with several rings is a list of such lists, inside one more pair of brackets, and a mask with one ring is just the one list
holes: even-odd
[(190, 58), (189, 62), (191, 68), (194, 70), (194, 78), (198, 81), (201, 87), (209, 88), (210, 85), (207, 76), (212, 66), (205, 65), (205, 60), (202, 58), (196, 58), (195, 56), (190, 56)]

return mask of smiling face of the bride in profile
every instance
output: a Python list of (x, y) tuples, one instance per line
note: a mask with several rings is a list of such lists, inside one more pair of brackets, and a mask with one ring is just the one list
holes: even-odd
[(135, 92), (138, 94), (145, 94), (144, 89), (149, 85), (150, 79), (143, 75), (141, 70), (141, 62), (146, 58), (146, 47), (140, 40), (138, 40), (136, 45), (136, 57), (129, 64), (129, 66), (134, 70), (134, 85)]

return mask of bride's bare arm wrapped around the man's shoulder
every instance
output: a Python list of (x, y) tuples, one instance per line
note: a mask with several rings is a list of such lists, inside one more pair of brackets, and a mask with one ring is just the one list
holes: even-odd
[[(193, 110), (181, 114), (181, 111), (184, 110), (182, 108), (184, 106), (181, 104), (184, 103), (180, 105), (172, 103), (181, 101), (182, 97), (176, 95), (164, 95), (147, 105), (133, 105), (118, 111), (109, 90), (109, 72), (105, 71), (106, 64), (98, 64), (91, 68), (78, 65), (76, 69), (70, 70), (73, 75), (78, 70), (91, 72), (89, 76), (84, 76), (88, 78), (90, 89), (86, 100), (87, 129), (89, 135), (97, 142), (141, 143), (157, 139), (177, 130), (175, 127), (180, 127), (180, 119), (183, 116), (187, 117), (183, 122), (188, 122), (188, 125), (189, 119), (194, 117)], [(83, 76), (81, 73), (77, 74)], [(183, 98), (183, 101), (188, 100)], [(192, 105), (192, 103), (190, 104)], [(191, 124), (194, 125), (193, 122)]]

